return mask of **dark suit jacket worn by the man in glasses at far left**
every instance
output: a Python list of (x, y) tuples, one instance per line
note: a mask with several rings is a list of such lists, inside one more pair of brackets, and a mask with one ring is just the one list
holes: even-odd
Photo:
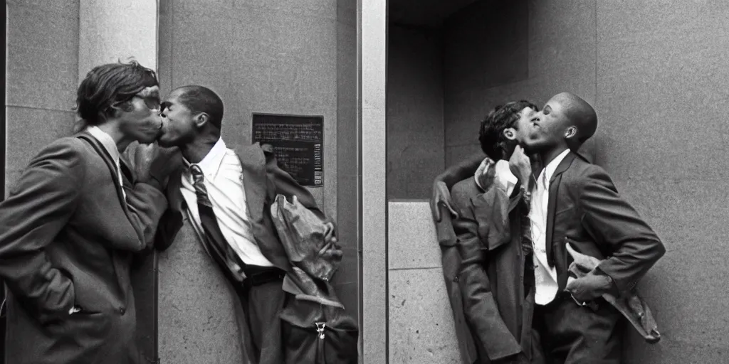
[(0, 204), (6, 363), (136, 363), (130, 259), (152, 244), (167, 202), (144, 183), (128, 204), (121, 191), (84, 132), (44, 148)]

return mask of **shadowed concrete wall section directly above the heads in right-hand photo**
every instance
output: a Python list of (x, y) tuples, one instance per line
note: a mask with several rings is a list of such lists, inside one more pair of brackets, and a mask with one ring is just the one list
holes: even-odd
[[(562, 90), (594, 102), (594, 5), (477, 1), (446, 20), (445, 165), (480, 152), (478, 123), (496, 105), (541, 107)], [(591, 141), (583, 150), (593, 157)]]

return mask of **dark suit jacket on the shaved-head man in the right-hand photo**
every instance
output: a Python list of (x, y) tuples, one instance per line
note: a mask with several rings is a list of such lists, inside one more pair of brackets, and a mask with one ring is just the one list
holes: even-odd
[(598, 268), (612, 277), (620, 295), (634, 288), (666, 253), (655, 232), (617, 193), (607, 173), (572, 152), (550, 181), (545, 241), (560, 290), (566, 286), (572, 263), (567, 242), (580, 253), (605, 259)]

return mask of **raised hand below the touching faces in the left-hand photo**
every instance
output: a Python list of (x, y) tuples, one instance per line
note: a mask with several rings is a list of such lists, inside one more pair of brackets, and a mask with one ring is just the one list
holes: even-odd
[(167, 186), (168, 176), (182, 165), (179, 149), (162, 148), (157, 143), (139, 144), (134, 150), (134, 170), (143, 183), (156, 181), (160, 188)]

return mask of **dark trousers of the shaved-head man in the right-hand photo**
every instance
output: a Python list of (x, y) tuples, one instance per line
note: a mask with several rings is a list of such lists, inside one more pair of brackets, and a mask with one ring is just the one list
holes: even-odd
[(561, 292), (535, 305), (533, 324), (547, 364), (620, 364), (623, 316), (603, 298), (595, 302), (593, 310)]

